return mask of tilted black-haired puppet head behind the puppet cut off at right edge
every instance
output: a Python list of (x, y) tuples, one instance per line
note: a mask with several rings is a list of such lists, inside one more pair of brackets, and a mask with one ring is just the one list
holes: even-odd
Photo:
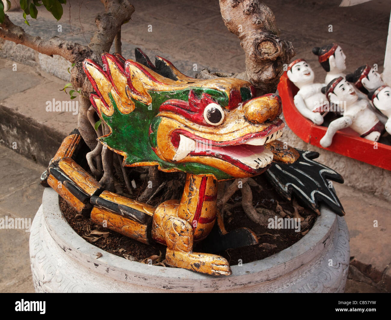
[[(368, 66), (368, 64), (364, 64), (357, 68), (355, 72), (347, 74), (346, 80), (352, 82), (355, 88), (365, 95), (368, 95), (369, 91), (374, 91), (375, 89), (384, 86), (381, 75)], [(371, 98), (369, 98), (369, 100), (371, 100)]]

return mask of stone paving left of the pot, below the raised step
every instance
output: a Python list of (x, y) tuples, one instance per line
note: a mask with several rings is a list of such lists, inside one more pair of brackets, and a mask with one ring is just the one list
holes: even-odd
[[(0, 145), (0, 168), (0, 218), (32, 222), (42, 202), (39, 177), (45, 167)], [(34, 292), (29, 236), (25, 229), (0, 229), (0, 292)]]

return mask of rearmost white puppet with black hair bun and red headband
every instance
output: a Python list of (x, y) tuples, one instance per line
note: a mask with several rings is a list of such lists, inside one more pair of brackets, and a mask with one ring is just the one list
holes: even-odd
[(331, 43), (321, 48), (315, 47), (312, 49), (312, 53), (318, 56), (319, 63), (327, 72), (325, 85), (335, 78), (345, 77), (343, 71), (346, 69), (346, 55), (337, 43)]

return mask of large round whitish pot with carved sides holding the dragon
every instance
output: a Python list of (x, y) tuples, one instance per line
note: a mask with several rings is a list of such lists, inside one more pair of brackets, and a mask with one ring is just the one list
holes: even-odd
[(31, 227), (30, 261), (37, 292), (343, 292), (349, 238), (345, 220), (322, 207), (312, 229), (291, 247), (232, 266), (230, 276), (203, 275), (95, 247), (68, 225), (57, 193), (45, 188)]

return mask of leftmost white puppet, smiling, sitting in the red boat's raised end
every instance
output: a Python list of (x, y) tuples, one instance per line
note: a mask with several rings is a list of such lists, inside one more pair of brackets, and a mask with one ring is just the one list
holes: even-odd
[(314, 72), (304, 59), (297, 59), (288, 66), (287, 76), (296, 87), (294, 104), (298, 111), (317, 125), (323, 123), (323, 107), (328, 105), (326, 96), (321, 92), (323, 84), (314, 83)]

